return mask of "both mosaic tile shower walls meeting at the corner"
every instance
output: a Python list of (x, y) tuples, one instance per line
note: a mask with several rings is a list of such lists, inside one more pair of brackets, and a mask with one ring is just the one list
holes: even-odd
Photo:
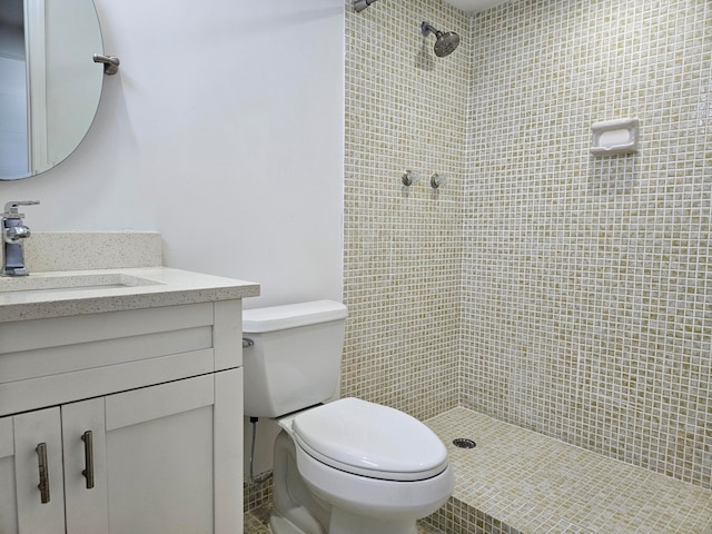
[[(710, 488), (712, 4), (349, 6), (342, 395)], [(639, 151), (592, 157), (627, 117)]]

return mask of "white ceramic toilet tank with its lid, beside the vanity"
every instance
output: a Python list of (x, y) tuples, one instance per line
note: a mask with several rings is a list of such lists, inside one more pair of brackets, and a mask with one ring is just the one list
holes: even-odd
[(333, 300), (245, 309), (245, 415), (279, 417), (334, 396), (346, 315)]

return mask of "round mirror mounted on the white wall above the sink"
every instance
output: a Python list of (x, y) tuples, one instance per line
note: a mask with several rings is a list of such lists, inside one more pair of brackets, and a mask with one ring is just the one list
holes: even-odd
[(67, 158), (99, 106), (103, 65), (92, 0), (0, 2), (0, 180)]

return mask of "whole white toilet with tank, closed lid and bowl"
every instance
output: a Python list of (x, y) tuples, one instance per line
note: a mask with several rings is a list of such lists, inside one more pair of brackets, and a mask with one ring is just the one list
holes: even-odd
[(346, 307), (247, 309), (245, 415), (276, 418), (274, 534), (416, 534), (451, 495), (447, 451), (403, 412), (334, 396)]

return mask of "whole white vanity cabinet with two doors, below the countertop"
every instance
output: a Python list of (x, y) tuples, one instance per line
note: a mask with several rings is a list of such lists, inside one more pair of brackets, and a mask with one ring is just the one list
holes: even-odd
[(241, 533), (241, 425), (240, 300), (1, 323), (0, 533)]

